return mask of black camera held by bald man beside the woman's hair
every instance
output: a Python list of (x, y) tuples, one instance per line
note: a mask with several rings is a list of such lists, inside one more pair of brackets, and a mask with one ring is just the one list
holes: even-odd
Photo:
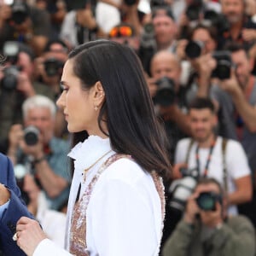
[(157, 90), (153, 97), (154, 104), (159, 104), (163, 107), (172, 105), (176, 97), (174, 81), (167, 77), (162, 77), (158, 79), (155, 84), (157, 85)]

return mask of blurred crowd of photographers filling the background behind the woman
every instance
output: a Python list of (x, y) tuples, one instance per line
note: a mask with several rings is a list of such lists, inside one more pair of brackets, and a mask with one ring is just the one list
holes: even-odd
[(254, 255), (254, 0), (0, 0), (0, 150), (27, 206), (37, 215), (44, 195), (65, 212), (69, 137), (54, 103), (68, 52), (97, 38), (137, 52), (170, 139), (161, 253)]

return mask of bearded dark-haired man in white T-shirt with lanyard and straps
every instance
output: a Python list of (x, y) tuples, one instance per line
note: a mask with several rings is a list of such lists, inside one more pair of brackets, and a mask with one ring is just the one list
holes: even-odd
[[(214, 177), (226, 190), (229, 213), (237, 214), (236, 205), (252, 199), (251, 171), (241, 144), (215, 135), (218, 124), (213, 103), (196, 98), (189, 107), (192, 138), (177, 143), (174, 177), (181, 178), (180, 168), (195, 169), (199, 177)], [(226, 173), (226, 174), (225, 174)]]

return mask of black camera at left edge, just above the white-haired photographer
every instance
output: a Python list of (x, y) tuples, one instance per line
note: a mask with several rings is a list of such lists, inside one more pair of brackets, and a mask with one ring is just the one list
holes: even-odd
[(9, 66), (3, 69), (3, 79), (1, 80), (1, 87), (5, 90), (15, 90), (18, 84), (18, 75), (20, 67)]

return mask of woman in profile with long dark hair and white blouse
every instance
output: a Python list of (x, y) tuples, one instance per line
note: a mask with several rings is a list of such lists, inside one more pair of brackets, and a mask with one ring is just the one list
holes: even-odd
[(73, 133), (67, 251), (28, 218), (17, 224), (18, 245), (28, 255), (158, 255), (171, 165), (137, 55), (108, 40), (82, 44), (61, 87), (57, 105)]

